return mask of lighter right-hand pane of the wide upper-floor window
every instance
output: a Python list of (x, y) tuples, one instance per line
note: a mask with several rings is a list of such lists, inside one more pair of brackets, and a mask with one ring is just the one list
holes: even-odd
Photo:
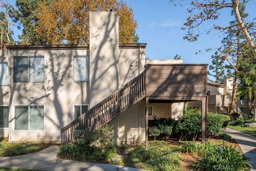
[(30, 82), (44, 82), (44, 57), (30, 57), (29, 66)]

